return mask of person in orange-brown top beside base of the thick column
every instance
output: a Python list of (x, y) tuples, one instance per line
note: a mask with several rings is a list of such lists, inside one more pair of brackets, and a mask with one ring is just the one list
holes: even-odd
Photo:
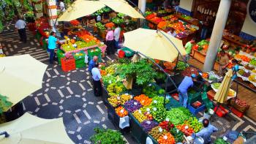
[(227, 56), (227, 53), (225, 53), (224, 50), (222, 50), (219, 54), (219, 75), (222, 76), (225, 74), (225, 69), (230, 61), (230, 58)]

